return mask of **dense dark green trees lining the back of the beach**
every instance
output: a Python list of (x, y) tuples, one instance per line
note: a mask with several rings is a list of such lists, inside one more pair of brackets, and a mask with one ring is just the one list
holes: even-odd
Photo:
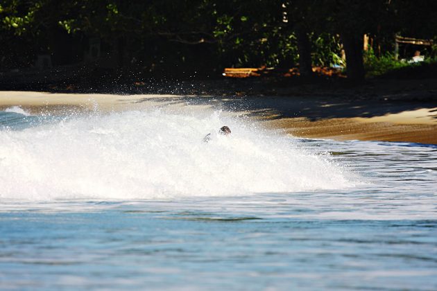
[(89, 64), (145, 76), (436, 58), (437, 1), (1, 0), (0, 71)]

